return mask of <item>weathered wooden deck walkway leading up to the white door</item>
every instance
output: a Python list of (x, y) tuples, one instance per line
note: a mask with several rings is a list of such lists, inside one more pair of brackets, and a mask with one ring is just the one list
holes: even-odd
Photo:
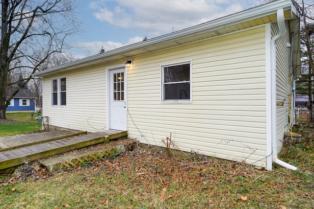
[[(43, 135), (44, 136), (44, 135)], [(59, 138), (52, 137), (52, 138)], [(83, 136), (63, 136), (61, 139), (44, 139), (44, 142), (26, 143), (25, 146), (15, 144), (13, 148), (0, 150), (0, 173), (1, 170), (70, 150), (90, 146), (100, 142), (108, 142), (111, 139), (126, 138), (127, 131), (119, 132), (108, 130)], [(14, 140), (14, 138), (11, 138)]]

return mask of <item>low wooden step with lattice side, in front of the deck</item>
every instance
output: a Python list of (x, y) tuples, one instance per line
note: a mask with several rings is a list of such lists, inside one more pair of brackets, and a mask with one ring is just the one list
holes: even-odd
[(40, 160), (39, 163), (46, 166), (49, 172), (66, 169), (70, 167), (76, 167), (86, 162), (92, 162), (94, 160), (102, 160), (105, 158), (111, 158), (117, 156), (125, 151), (133, 150), (138, 144), (138, 141), (131, 140), (124, 145), (117, 145), (106, 149), (96, 149), (85, 151), (83, 153), (76, 153), (73, 155), (58, 156), (51, 159)]

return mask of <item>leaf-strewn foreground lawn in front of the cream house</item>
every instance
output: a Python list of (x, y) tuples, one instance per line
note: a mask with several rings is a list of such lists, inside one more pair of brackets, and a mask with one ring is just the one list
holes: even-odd
[(245, 163), (195, 155), (168, 157), (158, 148), (138, 147), (105, 161), (49, 174), (26, 163), (0, 176), (5, 209), (312, 209), (314, 130), (284, 145), (272, 171)]

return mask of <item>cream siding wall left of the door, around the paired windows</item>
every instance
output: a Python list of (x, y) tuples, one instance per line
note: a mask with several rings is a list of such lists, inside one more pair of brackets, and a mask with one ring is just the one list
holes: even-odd
[[(106, 126), (106, 73), (98, 66), (44, 78), (43, 116), (53, 126), (97, 132)], [(66, 106), (60, 106), (60, 80), (66, 77)], [(58, 106), (52, 106), (52, 80), (58, 79)]]

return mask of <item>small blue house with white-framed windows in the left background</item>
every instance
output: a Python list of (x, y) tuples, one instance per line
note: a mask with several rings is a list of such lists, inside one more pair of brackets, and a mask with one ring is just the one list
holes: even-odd
[[(11, 95), (9, 92), (7, 95)], [(21, 89), (10, 101), (7, 113), (23, 113), (36, 111), (36, 95), (29, 89)]]

